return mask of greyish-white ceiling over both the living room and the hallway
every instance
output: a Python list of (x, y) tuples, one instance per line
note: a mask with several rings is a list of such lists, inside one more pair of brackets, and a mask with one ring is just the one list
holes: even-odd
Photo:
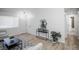
[[(19, 11), (32, 10), (36, 8), (0, 8), (0, 16), (16, 16)], [(77, 14), (79, 8), (64, 8), (66, 14)]]

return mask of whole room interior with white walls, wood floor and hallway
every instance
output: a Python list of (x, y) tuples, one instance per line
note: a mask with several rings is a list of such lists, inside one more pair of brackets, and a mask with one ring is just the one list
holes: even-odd
[(0, 8), (0, 50), (78, 50), (79, 8)]

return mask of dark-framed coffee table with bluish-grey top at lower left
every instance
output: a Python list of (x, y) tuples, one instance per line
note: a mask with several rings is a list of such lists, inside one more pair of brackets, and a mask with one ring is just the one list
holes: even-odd
[[(3, 41), (3, 46), (5, 49), (8, 50), (17, 50), (17, 49), (22, 49), (22, 40), (18, 39), (18, 38), (5, 38)], [(17, 48), (16, 48), (17, 47)]]

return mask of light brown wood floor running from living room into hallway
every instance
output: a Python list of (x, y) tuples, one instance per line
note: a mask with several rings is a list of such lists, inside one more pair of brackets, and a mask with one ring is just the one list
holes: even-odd
[(56, 44), (52, 43), (49, 40), (44, 40), (42, 38), (38, 38), (34, 35), (27, 34), (27, 33), (17, 35), (17, 37), (24, 41), (29, 41), (32, 44), (38, 44), (39, 42), (42, 42), (43, 47), (46, 50), (78, 50), (79, 49), (79, 40), (74, 35), (69, 35), (65, 39), (65, 43), (59, 42)]

